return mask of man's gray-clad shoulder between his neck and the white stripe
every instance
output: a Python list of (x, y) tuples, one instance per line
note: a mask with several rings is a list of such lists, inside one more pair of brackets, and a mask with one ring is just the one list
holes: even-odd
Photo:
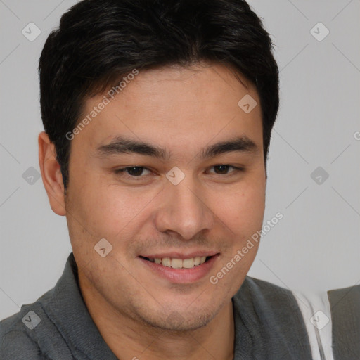
[(238, 343), (257, 344), (252, 351), (259, 358), (311, 359), (302, 312), (290, 290), (246, 276), (233, 296), (233, 311)]

